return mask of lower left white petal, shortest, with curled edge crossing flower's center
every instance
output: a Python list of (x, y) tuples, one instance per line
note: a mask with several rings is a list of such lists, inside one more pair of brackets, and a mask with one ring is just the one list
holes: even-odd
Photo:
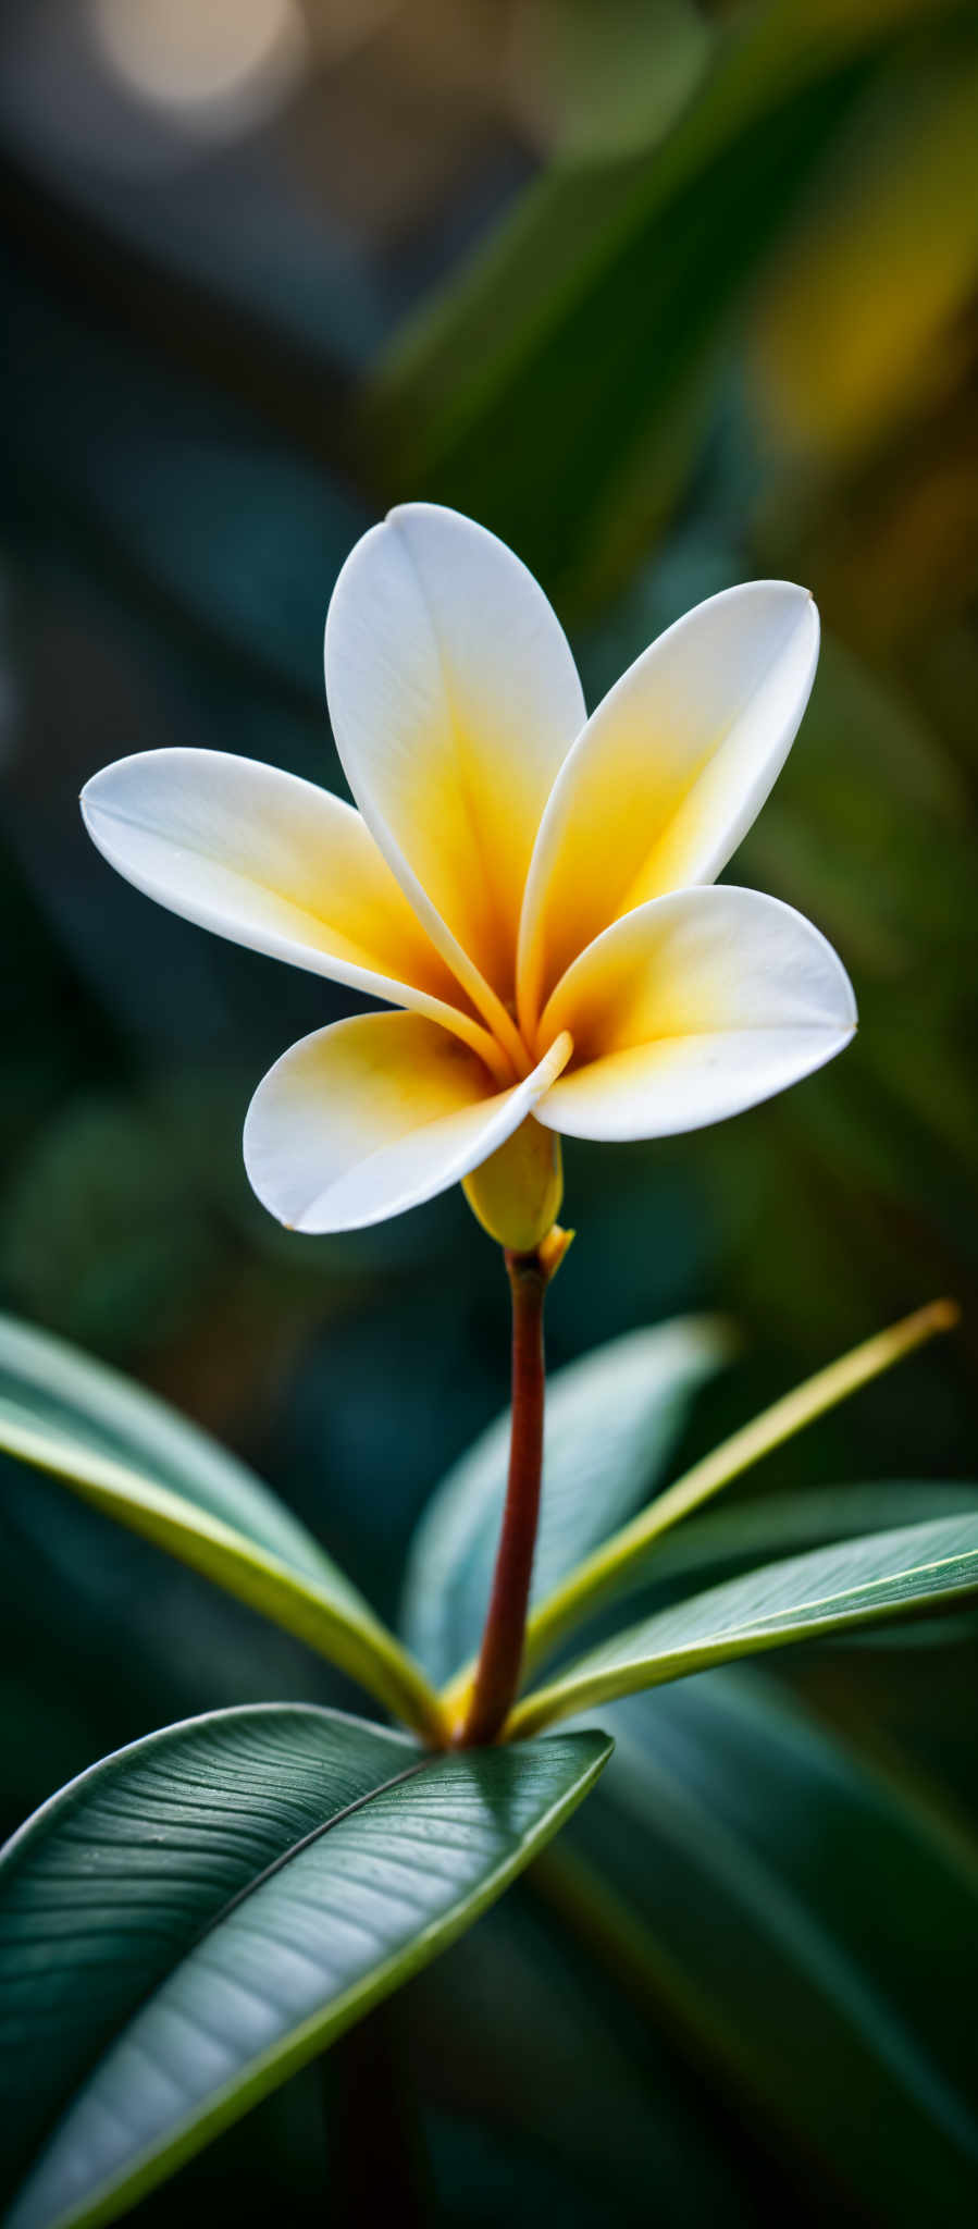
[(564, 1041), (508, 1092), (419, 1014), (359, 1014), (270, 1068), (245, 1121), (258, 1199), (292, 1230), (359, 1230), (468, 1177), (548, 1090)]

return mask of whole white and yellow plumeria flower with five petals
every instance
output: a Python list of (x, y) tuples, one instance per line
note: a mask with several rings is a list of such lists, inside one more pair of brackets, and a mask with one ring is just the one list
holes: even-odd
[(356, 800), (216, 751), (87, 785), (105, 858), (172, 912), (401, 1012), (316, 1030), (245, 1121), (258, 1199), (352, 1230), (466, 1179), (530, 1250), (559, 1135), (737, 1114), (849, 1043), (851, 983), (793, 907), (717, 885), (818, 660), (804, 588), (746, 582), (586, 716), (544, 591), (495, 535), (405, 504), (348, 557), (325, 687)]

